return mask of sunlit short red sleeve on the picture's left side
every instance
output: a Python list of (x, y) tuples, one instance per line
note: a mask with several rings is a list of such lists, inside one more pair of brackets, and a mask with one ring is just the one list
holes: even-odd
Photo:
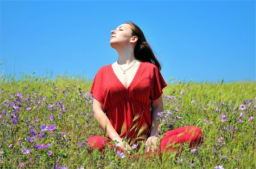
[(92, 94), (93, 98), (98, 100), (102, 105), (104, 104), (104, 85), (103, 85), (104, 79), (102, 75), (102, 68), (98, 70), (96, 73), (92, 88), (90, 90), (90, 94)]

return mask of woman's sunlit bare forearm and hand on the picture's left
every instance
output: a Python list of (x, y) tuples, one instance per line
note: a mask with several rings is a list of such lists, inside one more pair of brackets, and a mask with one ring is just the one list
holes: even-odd
[(105, 115), (104, 111), (102, 110), (101, 103), (98, 102), (98, 100), (96, 99), (93, 99), (93, 113), (96, 121), (100, 123), (101, 129), (106, 132), (111, 140), (118, 141), (120, 147), (123, 147), (123, 145), (125, 145), (126, 149), (131, 149), (131, 147), (127, 145), (127, 143), (123, 144), (122, 138), (118, 135), (109, 118)]

